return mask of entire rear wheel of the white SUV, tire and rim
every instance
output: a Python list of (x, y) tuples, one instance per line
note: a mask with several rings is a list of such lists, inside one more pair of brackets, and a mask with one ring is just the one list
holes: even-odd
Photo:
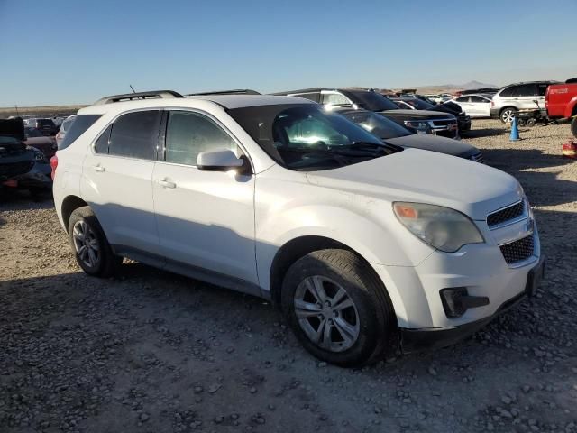
[(78, 207), (70, 215), (69, 239), (78, 265), (88, 275), (109, 277), (122, 263), (122, 257), (114, 255), (90, 207)]

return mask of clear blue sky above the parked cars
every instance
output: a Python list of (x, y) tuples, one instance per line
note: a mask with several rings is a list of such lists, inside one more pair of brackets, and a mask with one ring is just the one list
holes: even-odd
[(577, 76), (577, 0), (0, 0), (0, 106)]

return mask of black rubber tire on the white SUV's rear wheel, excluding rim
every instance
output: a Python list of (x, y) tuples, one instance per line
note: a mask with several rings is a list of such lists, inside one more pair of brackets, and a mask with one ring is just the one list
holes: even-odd
[[(96, 243), (97, 246), (96, 260), (93, 265), (90, 265), (80, 257), (76, 244), (77, 241), (75, 241), (75, 226), (78, 224), (78, 227), (80, 227), (83, 223), (88, 227), (87, 233), (90, 234), (90, 243)], [(87, 272), (88, 275), (100, 278), (110, 277), (114, 274), (116, 267), (123, 261), (122, 257), (114, 255), (110, 244), (108, 244), (106, 240), (105, 233), (90, 207), (78, 207), (78, 209), (74, 210), (70, 215), (69, 240), (78, 265), (84, 272)]]

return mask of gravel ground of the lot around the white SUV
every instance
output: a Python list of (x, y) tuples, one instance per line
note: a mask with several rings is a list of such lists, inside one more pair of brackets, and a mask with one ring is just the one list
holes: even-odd
[(465, 140), (536, 207), (546, 279), (461, 344), (318, 363), (270, 304), (125, 263), (79, 271), (51, 200), (0, 203), (0, 431), (577, 432), (577, 162), (568, 125)]

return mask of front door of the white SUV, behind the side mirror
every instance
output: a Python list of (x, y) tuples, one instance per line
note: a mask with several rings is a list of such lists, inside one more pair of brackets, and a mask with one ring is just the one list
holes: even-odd
[(243, 151), (206, 113), (170, 110), (164, 152), (152, 175), (160, 249), (167, 268), (192, 266), (258, 283), (254, 244), (254, 176), (197, 168), (199, 152)]

